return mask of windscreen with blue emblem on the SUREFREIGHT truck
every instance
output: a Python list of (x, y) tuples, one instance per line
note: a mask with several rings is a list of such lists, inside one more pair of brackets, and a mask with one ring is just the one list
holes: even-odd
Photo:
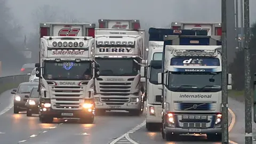
[(44, 61), (43, 77), (54, 80), (89, 80), (92, 78), (91, 61)]

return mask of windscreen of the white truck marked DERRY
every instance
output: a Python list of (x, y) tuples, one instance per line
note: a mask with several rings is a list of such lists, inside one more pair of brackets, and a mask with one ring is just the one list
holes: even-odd
[(100, 76), (136, 76), (140, 69), (133, 58), (97, 58)]

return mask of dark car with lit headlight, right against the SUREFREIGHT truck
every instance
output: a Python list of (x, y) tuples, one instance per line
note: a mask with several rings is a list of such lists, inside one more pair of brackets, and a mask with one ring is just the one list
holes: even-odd
[(31, 116), (32, 114), (38, 114), (39, 92), (37, 90), (38, 88), (34, 87), (29, 95), (25, 95), (25, 98), (28, 98), (26, 102), (27, 116)]

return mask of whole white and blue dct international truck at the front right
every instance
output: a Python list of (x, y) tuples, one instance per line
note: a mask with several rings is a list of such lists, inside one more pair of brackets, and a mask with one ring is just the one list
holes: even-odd
[[(158, 73), (162, 137), (172, 140), (179, 134), (198, 133), (220, 141), (221, 36), (207, 36), (205, 30), (171, 30), (173, 35), (164, 36), (162, 73)], [(229, 90), (231, 74), (228, 85)]]

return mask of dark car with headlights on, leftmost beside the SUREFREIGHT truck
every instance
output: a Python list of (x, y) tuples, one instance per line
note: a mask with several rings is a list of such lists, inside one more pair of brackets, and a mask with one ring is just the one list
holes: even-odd
[(27, 97), (29, 96), (31, 90), (34, 87), (38, 87), (38, 83), (31, 83), (31, 82), (25, 82), (21, 83), (18, 87), (18, 89), (13, 89), (11, 94), (15, 94), (14, 99), (13, 99), (13, 113), (14, 114), (19, 114), (19, 111), (25, 111), (27, 109), (26, 107), (26, 102)]

